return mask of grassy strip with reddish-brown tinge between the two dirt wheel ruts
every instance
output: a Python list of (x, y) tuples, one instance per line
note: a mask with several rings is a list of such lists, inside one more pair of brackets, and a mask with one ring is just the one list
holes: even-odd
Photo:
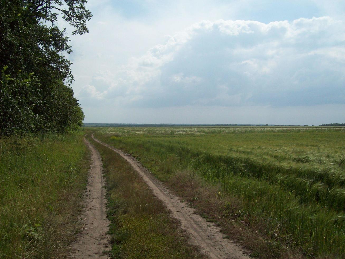
[(206, 258), (187, 243), (178, 222), (120, 155), (89, 138), (100, 152), (108, 192), (112, 258)]

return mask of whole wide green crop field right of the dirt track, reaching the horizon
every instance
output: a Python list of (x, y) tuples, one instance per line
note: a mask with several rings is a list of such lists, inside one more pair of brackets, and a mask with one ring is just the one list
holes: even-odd
[(269, 244), (269, 252), (257, 251), (263, 257), (283, 250), (330, 258), (345, 254), (345, 128), (92, 130), (162, 181), (188, 170), (220, 185), (219, 198), (229, 195), (239, 204), (235, 209), (227, 204), (226, 217), (246, 222)]

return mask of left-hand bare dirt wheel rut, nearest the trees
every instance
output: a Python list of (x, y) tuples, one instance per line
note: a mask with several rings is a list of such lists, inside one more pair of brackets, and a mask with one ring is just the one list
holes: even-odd
[(83, 204), (85, 212), (82, 215), (82, 229), (78, 240), (71, 245), (72, 258), (108, 258), (102, 255), (104, 250), (110, 250), (108, 231), (109, 221), (106, 218), (104, 177), (102, 176), (102, 161), (96, 148), (84, 138), (91, 151), (91, 168)]

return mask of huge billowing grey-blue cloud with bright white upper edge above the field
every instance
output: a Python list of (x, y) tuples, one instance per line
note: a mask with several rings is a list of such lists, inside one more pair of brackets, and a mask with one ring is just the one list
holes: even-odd
[(78, 96), (127, 107), (344, 104), (344, 28), (330, 17), (200, 21)]

